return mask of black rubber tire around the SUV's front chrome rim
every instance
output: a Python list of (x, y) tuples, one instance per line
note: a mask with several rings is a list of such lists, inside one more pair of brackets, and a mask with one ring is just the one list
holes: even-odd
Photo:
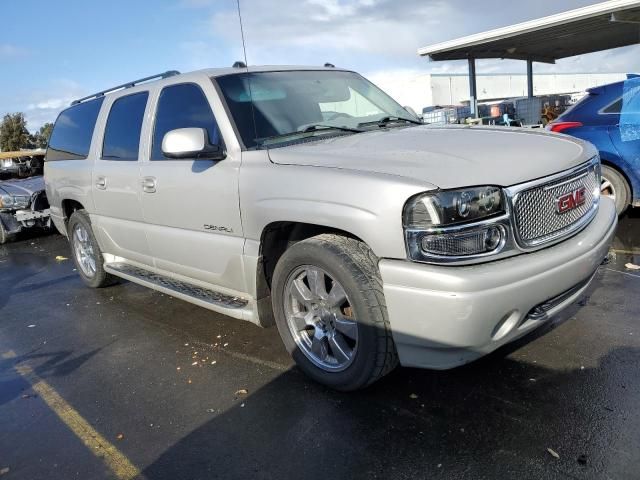
[[(344, 288), (355, 313), (358, 347), (352, 362), (341, 371), (316, 366), (296, 344), (285, 314), (285, 286), (298, 268), (313, 265), (335, 278)], [(378, 259), (364, 243), (341, 235), (322, 234), (288, 248), (273, 274), (273, 310), (285, 347), (299, 368), (330, 388), (351, 391), (364, 388), (398, 364), (395, 344), (378, 270)]]

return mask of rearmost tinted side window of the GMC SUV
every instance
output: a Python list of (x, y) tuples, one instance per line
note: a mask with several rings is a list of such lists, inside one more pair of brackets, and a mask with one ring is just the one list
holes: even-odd
[(51, 133), (47, 161), (84, 160), (104, 98), (79, 103), (62, 112)]

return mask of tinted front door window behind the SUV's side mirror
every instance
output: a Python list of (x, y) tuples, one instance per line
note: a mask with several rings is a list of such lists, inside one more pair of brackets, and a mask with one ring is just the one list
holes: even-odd
[(170, 160), (162, 153), (162, 139), (176, 128), (204, 128), (209, 134), (209, 143), (220, 143), (218, 125), (209, 101), (194, 83), (171, 85), (160, 92), (151, 160)]

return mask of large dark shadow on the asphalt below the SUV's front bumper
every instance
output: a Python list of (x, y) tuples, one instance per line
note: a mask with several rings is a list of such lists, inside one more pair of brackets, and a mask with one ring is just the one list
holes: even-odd
[[(634, 452), (640, 391), (621, 383), (631, 373), (620, 370), (638, 365), (640, 349), (626, 347), (595, 368), (567, 371), (492, 356), (448, 372), (398, 369), (350, 394), (291, 370), (239, 398), (143, 474), (148, 480), (629, 477), (640, 471)], [(625, 422), (637, 425), (621, 428)]]

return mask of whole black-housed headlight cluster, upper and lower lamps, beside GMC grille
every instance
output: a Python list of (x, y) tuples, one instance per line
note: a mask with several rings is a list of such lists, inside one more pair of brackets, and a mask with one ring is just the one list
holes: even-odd
[(506, 209), (495, 186), (417, 195), (403, 212), (409, 256), (440, 263), (498, 253), (509, 231)]

